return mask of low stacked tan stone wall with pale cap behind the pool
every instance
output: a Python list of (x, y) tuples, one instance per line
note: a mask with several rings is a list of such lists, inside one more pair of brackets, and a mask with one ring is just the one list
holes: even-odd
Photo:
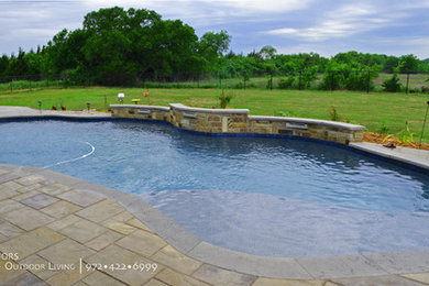
[(361, 142), (364, 127), (342, 122), (282, 117), (249, 116), (248, 109), (190, 108), (180, 103), (168, 107), (110, 106), (112, 117), (152, 119), (173, 125), (206, 133), (255, 133), (294, 135), (349, 144)]

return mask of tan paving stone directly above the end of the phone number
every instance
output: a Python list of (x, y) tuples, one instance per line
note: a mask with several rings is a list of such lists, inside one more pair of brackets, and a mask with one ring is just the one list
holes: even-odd
[(116, 244), (144, 256), (151, 256), (167, 245), (163, 239), (144, 230), (136, 230), (132, 234), (117, 241)]

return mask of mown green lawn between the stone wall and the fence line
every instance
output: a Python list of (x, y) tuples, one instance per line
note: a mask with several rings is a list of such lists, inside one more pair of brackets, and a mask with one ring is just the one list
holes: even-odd
[[(57, 108), (61, 105), (68, 110), (82, 110), (86, 102), (91, 108), (107, 110), (110, 103), (118, 103), (118, 92), (124, 92), (124, 103), (140, 98), (141, 105), (168, 106), (184, 103), (191, 107), (219, 108), (219, 89), (148, 89), (150, 102), (143, 98), (144, 89), (119, 88), (68, 88), (40, 89), (1, 94), (0, 106), (26, 106), (37, 108), (42, 100), (43, 109)], [(330, 120), (329, 110), (333, 106), (343, 121), (365, 125), (369, 131), (380, 132), (382, 128), (387, 133), (399, 136), (406, 132), (409, 123), (414, 139), (419, 140), (429, 95), (387, 94), (387, 92), (351, 92), (351, 91), (317, 91), (317, 90), (230, 90), (234, 98), (229, 105), (232, 108), (250, 109), (251, 114), (286, 116)], [(426, 125), (424, 141), (429, 143), (429, 123)]]

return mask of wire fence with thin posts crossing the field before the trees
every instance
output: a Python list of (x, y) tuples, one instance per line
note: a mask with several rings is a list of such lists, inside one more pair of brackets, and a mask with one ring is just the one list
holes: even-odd
[[(394, 79), (394, 77), (396, 77)], [(112, 79), (112, 80), (110, 80)], [(387, 82), (387, 84), (386, 84)], [(388, 86), (388, 84), (391, 86)], [(97, 77), (67, 74), (0, 77), (0, 92), (41, 88), (121, 86), (139, 88), (218, 88), (218, 89), (324, 89), (429, 94), (429, 73), (387, 74), (373, 70), (219, 70), (169, 74), (112, 73)]]

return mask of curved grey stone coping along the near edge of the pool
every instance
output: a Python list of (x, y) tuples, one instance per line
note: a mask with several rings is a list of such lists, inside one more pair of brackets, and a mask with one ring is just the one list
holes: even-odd
[(42, 168), (0, 164), (0, 169), (13, 174), (6, 178), (0, 175), (0, 183), (26, 175), (40, 175), (50, 182), (117, 201), (183, 254), (242, 274), (282, 279), (332, 279), (429, 272), (429, 250), (298, 258), (266, 257), (231, 251), (200, 240), (135, 195)]

